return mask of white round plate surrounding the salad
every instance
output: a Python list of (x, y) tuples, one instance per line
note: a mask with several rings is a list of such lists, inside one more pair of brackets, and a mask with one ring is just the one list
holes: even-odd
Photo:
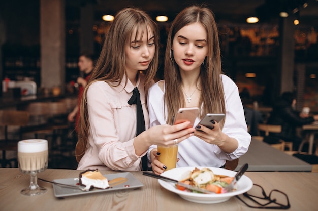
[[(193, 171), (195, 168), (196, 167), (173, 168), (172, 170), (168, 170), (162, 173), (161, 175), (179, 181), (182, 179), (181, 176), (183, 175), (183, 173), (185, 173), (186, 171)], [(197, 168), (202, 169), (205, 167), (197, 167)], [(206, 167), (206, 168), (209, 168), (210, 170), (212, 170), (213, 173), (216, 175), (227, 175), (230, 177), (234, 177), (236, 174), (236, 172), (231, 170), (226, 170), (224, 168), (215, 168), (215, 167)], [(175, 186), (175, 183), (166, 182), (161, 179), (158, 179), (158, 182), (163, 188), (178, 194), (181, 198), (187, 201), (192, 201), (196, 203), (204, 203), (204, 204), (225, 202), (229, 200), (232, 196), (236, 196), (236, 195), (247, 192), (253, 186), (253, 182), (251, 181), (251, 179), (249, 179), (245, 175), (243, 175), (234, 186), (237, 189), (236, 191), (229, 192), (229, 193), (219, 193), (219, 194), (186, 192), (186, 191), (178, 190)]]

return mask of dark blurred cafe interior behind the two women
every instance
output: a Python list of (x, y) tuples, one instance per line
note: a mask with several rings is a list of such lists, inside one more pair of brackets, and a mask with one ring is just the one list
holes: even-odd
[[(76, 168), (76, 135), (67, 114), (77, 100), (77, 62), (83, 52), (98, 57), (110, 24), (106, 18), (128, 6), (147, 11), (160, 26), (163, 58), (176, 14), (193, 3), (206, 2), (218, 23), (224, 73), (239, 92), (248, 93), (244, 107), (260, 111), (264, 121), (279, 95), (292, 91), (297, 110), (309, 107), (311, 113), (318, 112), (317, 0), (1, 1), (0, 110), (28, 111), (30, 129), (21, 132), (22, 137), (52, 140), (50, 155), (56, 157), (51, 158), (50, 168)], [(157, 16), (167, 20), (158, 21)], [(248, 18), (257, 20), (248, 22)], [(163, 79), (163, 64), (156, 79)], [(64, 103), (65, 110), (52, 113), (50, 107), (44, 114), (34, 112), (42, 107), (28, 110), (36, 103), (49, 107), (56, 102)], [(35, 125), (48, 122), (51, 127), (46, 131), (36, 130)], [(5, 128), (3, 121), (0, 139), (6, 136)], [(8, 128), (8, 132), (17, 130)], [(9, 158), (2, 157), (2, 167), (9, 166), (4, 159)]]

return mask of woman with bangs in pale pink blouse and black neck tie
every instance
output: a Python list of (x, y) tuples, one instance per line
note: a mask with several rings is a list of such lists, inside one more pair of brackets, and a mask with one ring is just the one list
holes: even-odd
[(148, 129), (146, 95), (158, 68), (158, 35), (156, 23), (139, 9), (115, 16), (81, 100), (79, 170), (146, 170), (152, 144), (170, 146), (193, 135), (190, 122)]

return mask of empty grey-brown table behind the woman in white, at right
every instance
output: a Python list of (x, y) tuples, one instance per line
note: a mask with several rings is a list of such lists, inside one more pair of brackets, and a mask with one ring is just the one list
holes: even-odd
[(253, 172), (311, 172), (312, 169), (307, 162), (253, 138), (248, 151), (239, 158), (236, 171), (244, 163), (248, 163), (247, 171)]

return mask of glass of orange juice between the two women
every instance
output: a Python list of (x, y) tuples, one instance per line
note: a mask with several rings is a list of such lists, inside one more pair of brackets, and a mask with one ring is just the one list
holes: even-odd
[(158, 156), (158, 160), (167, 166), (167, 170), (175, 168), (177, 165), (177, 155), (178, 155), (178, 144), (173, 146), (157, 146), (158, 152), (160, 155)]

